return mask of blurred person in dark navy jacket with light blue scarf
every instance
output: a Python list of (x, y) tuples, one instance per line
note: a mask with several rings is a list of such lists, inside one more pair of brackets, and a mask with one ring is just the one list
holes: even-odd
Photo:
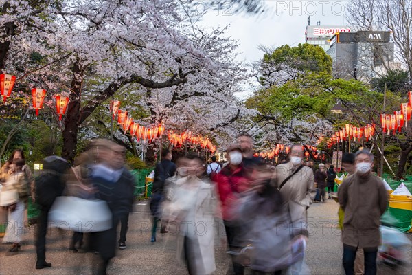
[(95, 164), (89, 166), (89, 179), (98, 190), (100, 199), (107, 202), (112, 212), (113, 227), (91, 234), (92, 246), (99, 253), (98, 274), (106, 274), (111, 258), (115, 256), (117, 225), (121, 223), (119, 248), (126, 248), (128, 217), (133, 210), (134, 177), (124, 166), (126, 148), (109, 140), (95, 140), (89, 153)]

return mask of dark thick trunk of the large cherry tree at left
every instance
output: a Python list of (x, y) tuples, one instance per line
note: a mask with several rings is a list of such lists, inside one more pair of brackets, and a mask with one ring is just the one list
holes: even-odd
[(67, 107), (65, 129), (62, 132), (63, 148), (62, 157), (73, 163), (76, 157), (78, 131), (80, 122), (80, 91), (82, 89), (82, 76), (84, 67), (78, 62), (73, 65), (73, 79), (71, 80), (70, 102)]

